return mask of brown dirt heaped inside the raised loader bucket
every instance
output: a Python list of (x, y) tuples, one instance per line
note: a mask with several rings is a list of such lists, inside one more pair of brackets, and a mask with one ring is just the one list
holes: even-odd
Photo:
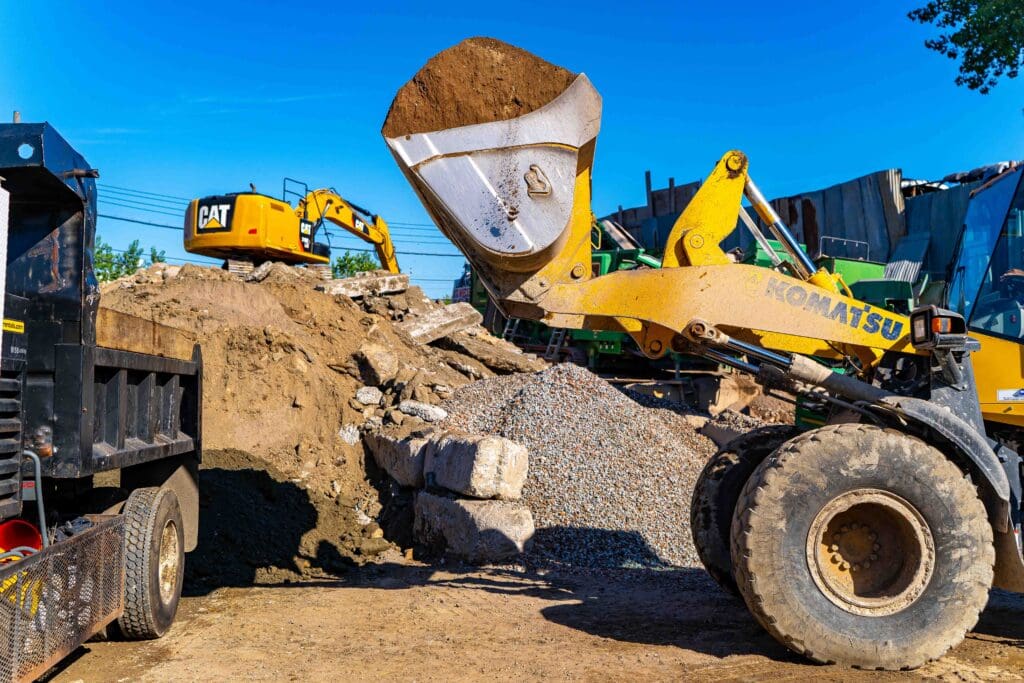
[(385, 137), (505, 121), (557, 97), (575, 74), (494, 38), (438, 52), (391, 102)]

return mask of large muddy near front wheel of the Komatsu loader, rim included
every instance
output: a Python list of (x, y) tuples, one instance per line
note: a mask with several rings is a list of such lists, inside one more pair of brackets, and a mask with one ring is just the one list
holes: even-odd
[(992, 529), (974, 485), (937, 450), (862, 424), (784, 443), (748, 480), (734, 575), (757, 621), (822, 664), (914, 669), (978, 621)]

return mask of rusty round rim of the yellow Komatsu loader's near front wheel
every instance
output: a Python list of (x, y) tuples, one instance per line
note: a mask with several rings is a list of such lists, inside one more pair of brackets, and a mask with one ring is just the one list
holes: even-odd
[(935, 568), (928, 523), (907, 501), (858, 488), (829, 501), (807, 535), (807, 563), (818, 589), (843, 609), (893, 614), (913, 603)]

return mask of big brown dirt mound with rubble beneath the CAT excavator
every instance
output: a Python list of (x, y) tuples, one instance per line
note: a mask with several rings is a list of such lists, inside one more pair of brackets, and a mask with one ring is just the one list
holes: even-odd
[[(415, 426), (418, 418), (397, 411), (400, 400), (439, 403), (494, 376), (488, 364), (501, 365), (404, 336), (397, 323), (439, 305), (418, 288), (357, 303), (317, 285), (314, 274), (284, 265), (243, 282), (218, 268), (159, 264), (102, 288), (101, 306), (203, 346), (203, 538), (189, 557), (194, 580), (274, 582), (385, 552), (390, 544), (374, 520), (388, 484), (360, 431)], [(459, 334), (489, 337), (482, 329)], [(498, 340), (487, 348), (536, 368)], [(374, 375), (375, 362), (383, 376)], [(368, 384), (378, 385), (376, 404), (356, 399)]]

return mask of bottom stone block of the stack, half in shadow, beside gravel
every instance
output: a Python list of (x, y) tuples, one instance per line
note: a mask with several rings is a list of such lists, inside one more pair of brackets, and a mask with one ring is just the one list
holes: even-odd
[(529, 509), (506, 501), (451, 499), (420, 492), (413, 533), (473, 563), (502, 562), (523, 553), (534, 538)]

